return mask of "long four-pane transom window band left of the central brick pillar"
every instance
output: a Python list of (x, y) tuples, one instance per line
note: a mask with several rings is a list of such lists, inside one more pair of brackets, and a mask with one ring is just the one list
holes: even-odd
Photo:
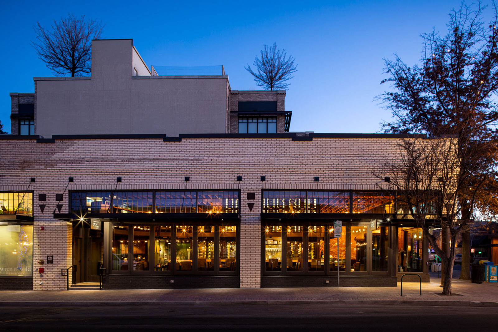
[(80, 214), (238, 213), (239, 192), (73, 192), (71, 193), (71, 212)]

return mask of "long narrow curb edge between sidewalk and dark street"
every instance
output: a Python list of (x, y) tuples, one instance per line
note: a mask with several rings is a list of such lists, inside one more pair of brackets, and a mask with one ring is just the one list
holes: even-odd
[(430, 300), (255, 300), (255, 301), (5, 301), (0, 307), (107, 307), (107, 306), (229, 306), (229, 305), (380, 305), (380, 306), (447, 306), (492, 307), (492, 301), (430, 301)]

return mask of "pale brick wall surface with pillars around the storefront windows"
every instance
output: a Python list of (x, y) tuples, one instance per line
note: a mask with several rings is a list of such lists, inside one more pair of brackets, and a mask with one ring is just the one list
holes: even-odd
[[(374, 173), (396, 153), (395, 138), (192, 138), (181, 142), (162, 139), (57, 140), (53, 144), (34, 140), (0, 140), (0, 191), (27, 187), (35, 177), (34, 278), (35, 290), (63, 290), (66, 277), (61, 268), (72, 264), (72, 225), (52, 218), (55, 194), (68, 190), (241, 189), (241, 287), (259, 287), (261, 257), (261, 189), (378, 189), (382, 182)], [(259, 177), (266, 176), (261, 182)], [(238, 183), (237, 176), (243, 176)], [(315, 176), (320, 182), (313, 182)], [(247, 200), (247, 193), (256, 198)], [(47, 194), (38, 202), (38, 194)], [(247, 203), (254, 203), (249, 211)], [(44, 213), (39, 204), (46, 204)], [(61, 202), (68, 213), (68, 194)], [(44, 230), (40, 230), (44, 226)], [(44, 264), (39, 259), (54, 256)], [(41, 285), (40, 282), (43, 282)]]

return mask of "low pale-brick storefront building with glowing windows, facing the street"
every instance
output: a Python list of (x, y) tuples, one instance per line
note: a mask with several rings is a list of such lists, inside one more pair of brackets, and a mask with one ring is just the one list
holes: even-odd
[[(24, 215), (9, 214), (3, 199), (0, 227), (33, 225), (32, 277), (0, 276), (0, 288), (63, 290), (61, 269), (78, 264), (70, 282), (95, 281), (103, 273), (107, 289), (330, 287), (337, 285), (338, 268), (343, 286), (395, 286), (402, 229), (396, 220), (402, 217), (394, 196), (382, 194), (385, 183), (378, 176), (407, 137), (414, 136), (0, 136), (3, 151), (23, 151), (0, 160), (0, 193), (32, 194), (32, 209)], [(126, 193), (138, 193), (141, 203), (123, 203), (119, 195)], [(167, 201), (171, 193), (181, 199)], [(111, 203), (102, 199), (106, 195)], [(198, 203), (186, 203), (188, 195), (197, 195)], [(218, 203), (211, 199), (216, 195)], [(337, 220), (343, 222), (340, 240), (332, 236)], [(90, 227), (93, 221), (99, 230)], [(160, 235), (161, 227), (170, 227), (169, 235)], [(202, 234), (208, 229), (209, 235)], [(174, 239), (176, 249), (168, 244)], [(133, 246), (124, 246), (128, 240)], [(428, 255), (424, 243), (421, 262)], [(420, 264), (417, 273), (427, 272)]]

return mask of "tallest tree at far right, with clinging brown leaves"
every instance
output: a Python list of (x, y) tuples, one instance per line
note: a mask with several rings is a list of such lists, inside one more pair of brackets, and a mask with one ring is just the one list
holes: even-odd
[[(460, 192), (461, 219), (476, 209), (498, 213), (498, 17), (489, 23), (483, 6), (462, 5), (450, 13), (448, 32), (422, 35), (422, 64), (409, 67), (396, 56), (386, 60), (395, 91), (378, 99), (392, 111), (387, 132), (456, 135), (460, 172), (468, 191)], [(383, 83), (382, 82), (382, 83)], [(472, 204), (471, 204), (472, 202)], [(470, 279), (470, 233), (462, 234), (461, 279)]]

